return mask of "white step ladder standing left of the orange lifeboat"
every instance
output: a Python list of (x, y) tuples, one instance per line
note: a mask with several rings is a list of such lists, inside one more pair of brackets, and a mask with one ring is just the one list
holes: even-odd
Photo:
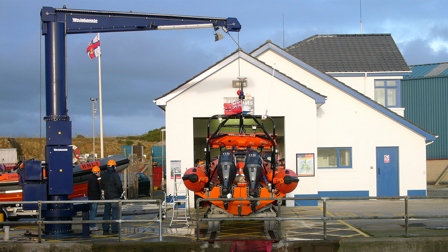
[[(182, 180), (182, 172), (174, 171), (174, 194), (172, 198), (172, 218), (169, 224), (171, 227), (172, 222), (186, 222), (187, 226), (190, 227), (188, 223), (188, 218), (191, 218), (190, 214), (190, 199), (189, 199), (189, 191), (184, 185), (184, 181)], [(178, 177), (178, 178), (177, 178)], [(183, 206), (183, 207), (182, 207)], [(188, 207), (188, 215), (187, 217), (187, 207)], [(179, 213), (181, 216), (179, 216)], [(193, 221), (192, 221), (193, 223)]]

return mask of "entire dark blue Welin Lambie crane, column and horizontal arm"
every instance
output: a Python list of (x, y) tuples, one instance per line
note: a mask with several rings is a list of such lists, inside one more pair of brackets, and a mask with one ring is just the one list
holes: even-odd
[[(65, 86), (65, 40), (67, 34), (213, 28), (224, 32), (241, 30), (236, 18), (195, 17), (133, 12), (56, 9), (42, 7), (45, 36), (46, 146), (43, 180), (40, 161), (26, 161), (23, 168), (24, 201), (66, 201), (73, 193), (72, 124), (67, 114)], [(216, 40), (219, 40), (217, 35)], [(67, 221), (76, 214), (70, 204), (42, 206), (46, 220)], [(36, 209), (36, 206), (28, 206)], [(25, 206), (24, 206), (25, 209)], [(45, 235), (69, 235), (71, 224), (45, 224)]]

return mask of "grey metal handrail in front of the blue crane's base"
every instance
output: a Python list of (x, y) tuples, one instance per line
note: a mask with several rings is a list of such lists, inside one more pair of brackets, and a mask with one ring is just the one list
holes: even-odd
[[(156, 203), (159, 206), (159, 216), (157, 220), (154, 219), (138, 219), (138, 220), (122, 220), (121, 219), (121, 207), (122, 203), (133, 203), (133, 202), (146, 202), (146, 203)], [(70, 203), (118, 203), (118, 219), (117, 220), (71, 220), (71, 221), (45, 221), (42, 220), (42, 204), (70, 204)], [(16, 221), (16, 222), (0, 222), (0, 224), (38, 224), (38, 243), (42, 242), (42, 224), (66, 224), (66, 223), (117, 223), (119, 226), (118, 241), (121, 242), (121, 224), (129, 222), (159, 222), (159, 242), (162, 239), (162, 201), (156, 200), (89, 200), (89, 201), (1, 201), (0, 205), (15, 205), (15, 204), (37, 204), (38, 205), (38, 220), (37, 221)]]

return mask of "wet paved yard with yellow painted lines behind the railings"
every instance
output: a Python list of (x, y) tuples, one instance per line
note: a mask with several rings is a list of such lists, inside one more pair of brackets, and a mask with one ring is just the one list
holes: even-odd
[[(448, 187), (428, 187), (428, 195), (447, 195)], [(142, 199), (142, 198), (140, 198)], [(136, 206), (138, 208), (138, 206)], [(167, 218), (164, 219), (162, 235), (164, 241), (194, 241), (196, 239), (196, 212), (191, 209), (189, 225), (184, 222), (173, 222), (172, 209), (167, 209)], [(201, 209), (201, 214), (205, 211)], [(319, 206), (295, 206), (281, 208), (282, 217), (320, 217), (323, 215), (322, 203)], [(352, 200), (352, 201), (328, 201), (327, 215), (329, 216), (402, 216), (405, 212), (404, 200)], [(151, 213), (151, 214), (148, 214)], [(188, 212), (187, 212), (188, 213)], [(125, 219), (156, 219), (154, 210), (128, 211)], [(138, 215), (134, 215), (138, 214)], [(446, 199), (419, 199), (409, 200), (409, 215), (447, 215), (448, 200)], [(79, 219), (79, 218), (78, 218)], [(98, 219), (100, 219), (98, 217)], [(185, 219), (185, 218), (184, 218)], [(28, 219), (32, 220), (32, 219)], [(250, 222), (221, 222), (220, 232), (212, 233), (207, 230), (207, 222), (199, 225), (200, 239), (210, 240), (211, 235), (216, 235), (216, 240), (275, 240), (278, 233), (264, 231), (262, 221)], [(404, 237), (405, 220), (403, 219), (371, 219), (371, 220), (334, 220), (327, 222), (327, 238), (367, 238)], [(100, 225), (98, 225), (100, 226)], [(12, 240), (29, 239), (23, 234), (26, 231), (37, 233), (37, 225), (11, 225)], [(81, 225), (73, 225), (75, 232), (81, 232)], [(158, 241), (158, 223), (125, 223), (123, 224), (123, 241)], [(2, 233), (2, 232), (1, 232)], [(3, 234), (1, 235), (3, 236)], [(448, 219), (410, 219), (410, 237), (448, 237)], [(103, 234), (102, 229), (93, 231), (90, 239), (71, 237), (65, 240), (86, 241), (116, 240), (118, 235)], [(281, 240), (295, 241), (303, 239), (323, 239), (322, 221), (283, 221), (281, 222)], [(47, 239), (48, 240), (48, 239)]]

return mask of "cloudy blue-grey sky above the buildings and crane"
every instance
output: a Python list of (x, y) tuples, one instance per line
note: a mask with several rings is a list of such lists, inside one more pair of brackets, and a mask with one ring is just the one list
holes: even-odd
[[(17, 1), (0, 0), (0, 136), (35, 137), (45, 123), (42, 6), (205, 17), (236, 17), (231, 33), (250, 52), (270, 39), (285, 47), (314, 34), (359, 34), (360, 1)], [(448, 62), (448, 1), (362, 0), (362, 32), (392, 34), (409, 65)], [(284, 33), (282, 16), (284, 17)], [(213, 29), (103, 33), (101, 68), (106, 136), (165, 125), (152, 102), (237, 49)], [(67, 35), (68, 114), (75, 133), (92, 136), (90, 98), (98, 62), (86, 56), (95, 34)], [(42, 43), (42, 44), (41, 44)], [(42, 52), (40, 50), (42, 48)], [(42, 55), (41, 55), (42, 53)], [(42, 62), (42, 65), (39, 63)], [(42, 73), (42, 74), (41, 74)], [(42, 83), (42, 86), (41, 86)], [(198, 102), (201, 97), (198, 97)], [(42, 107), (39, 109), (39, 107)], [(99, 119), (95, 120), (99, 132)], [(42, 136), (45, 135), (42, 129)]]

